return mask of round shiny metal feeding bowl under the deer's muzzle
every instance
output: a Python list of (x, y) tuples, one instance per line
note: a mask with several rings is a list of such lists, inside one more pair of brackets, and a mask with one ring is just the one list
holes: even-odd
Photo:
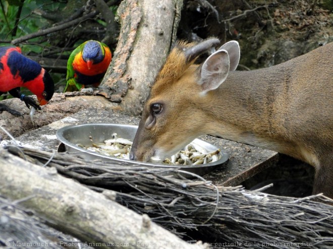
[[(121, 138), (134, 140), (137, 126), (118, 125), (108, 123), (87, 123), (82, 125), (73, 125), (61, 128), (57, 131), (57, 138), (62, 142), (58, 151), (68, 151), (78, 153), (80, 156), (84, 156), (87, 160), (100, 159), (102, 161), (117, 161), (127, 164), (140, 164), (147, 167), (162, 167), (162, 168), (177, 168), (184, 171), (192, 172), (198, 175), (204, 175), (219, 165), (223, 164), (229, 159), (229, 156), (224, 152), (219, 152), (219, 159), (215, 162), (209, 162), (198, 165), (169, 165), (164, 163), (150, 163), (140, 161), (129, 161), (127, 159), (121, 159), (113, 156), (106, 156), (96, 152), (88, 151), (84, 148), (77, 146), (78, 144), (83, 146), (92, 146), (92, 144), (103, 143), (104, 140), (112, 138), (114, 133)], [(216, 151), (218, 148), (212, 144), (209, 144), (200, 139), (193, 140), (192, 143), (198, 144), (208, 152)]]

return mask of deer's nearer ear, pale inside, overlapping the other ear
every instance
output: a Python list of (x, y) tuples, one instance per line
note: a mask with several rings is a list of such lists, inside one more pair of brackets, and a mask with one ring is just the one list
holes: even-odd
[(203, 94), (218, 88), (227, 79), (229, 64), (229, 55), (226, 50), (218, 50), (204, 61), (199, 80)]

